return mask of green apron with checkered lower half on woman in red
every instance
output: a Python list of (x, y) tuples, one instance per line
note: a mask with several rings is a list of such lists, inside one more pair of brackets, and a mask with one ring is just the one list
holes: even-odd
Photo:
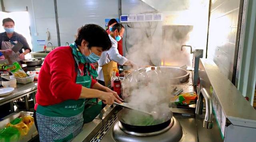
[[(90, 64), (87, 64), (84, 67), (84, 76), (81, 75), (78, 64), (79, 62), (85, 64), (85, 60), (81, 58), (82, 54), (74, 44), (70, 46), (76, 61), (76, 83), (90, 88), (92, 78), (89, 73), (94, 74), (94, 72), (92, 72)], [(85, 99), (66, 100), (50, 106), (38, 105), (36, 121), (40, 142), (70, 142), (82, 130), (84, 122), (83, 114), (85, 120), (87, 119), (87, 115), (90, 116), (90, 114), (84, 112), (84, 106)]]

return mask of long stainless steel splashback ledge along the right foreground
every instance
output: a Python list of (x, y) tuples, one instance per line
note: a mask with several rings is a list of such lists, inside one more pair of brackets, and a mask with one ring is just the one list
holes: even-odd
[(250, 102), (212, 60), (200, 59), (198, 75), (198, 88), (205, 88), (211, 96), (214, 116), (223, 140), (255, 141), (256, 110)]

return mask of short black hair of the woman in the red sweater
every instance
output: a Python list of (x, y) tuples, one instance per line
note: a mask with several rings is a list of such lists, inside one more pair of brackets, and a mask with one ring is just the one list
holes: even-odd
[(96, 24), (86, 24), (78, 29), (75, 43), (81, 46), (82, 40), (88, 42), (88, 48), (97, 46), (106, 51), (112, 46), (108, 33)]

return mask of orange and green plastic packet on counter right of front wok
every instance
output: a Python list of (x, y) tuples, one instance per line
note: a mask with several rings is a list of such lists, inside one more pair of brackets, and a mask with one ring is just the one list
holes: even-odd
[(187, 106), (196, 103), (196, 92), (188, 92), (171, 98), (171, 103), (180, 106)]

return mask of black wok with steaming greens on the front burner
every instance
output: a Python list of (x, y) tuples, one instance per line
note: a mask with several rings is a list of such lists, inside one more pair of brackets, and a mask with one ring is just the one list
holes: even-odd
[[(123, 108), (118, 112), (117, 118), (121, 122), (122, 126), (129, 131), (132, 132), (140, 132), (140, 133), (148, 133), (148, 132), (156, 132), (166, 128), (172, 119), (172, 112), (159, 114), (159, 118), (156, 119), (152, 124), (139, 124), (136, 120), (143, 120), (144, 118), (150, 118), (152, 116), (148, 114), (143, 114), (142, 112), (138, 112), (136, 110), (131, 110), (128, 108)], [(135, 123), (134, 123), (135, 122)]]

